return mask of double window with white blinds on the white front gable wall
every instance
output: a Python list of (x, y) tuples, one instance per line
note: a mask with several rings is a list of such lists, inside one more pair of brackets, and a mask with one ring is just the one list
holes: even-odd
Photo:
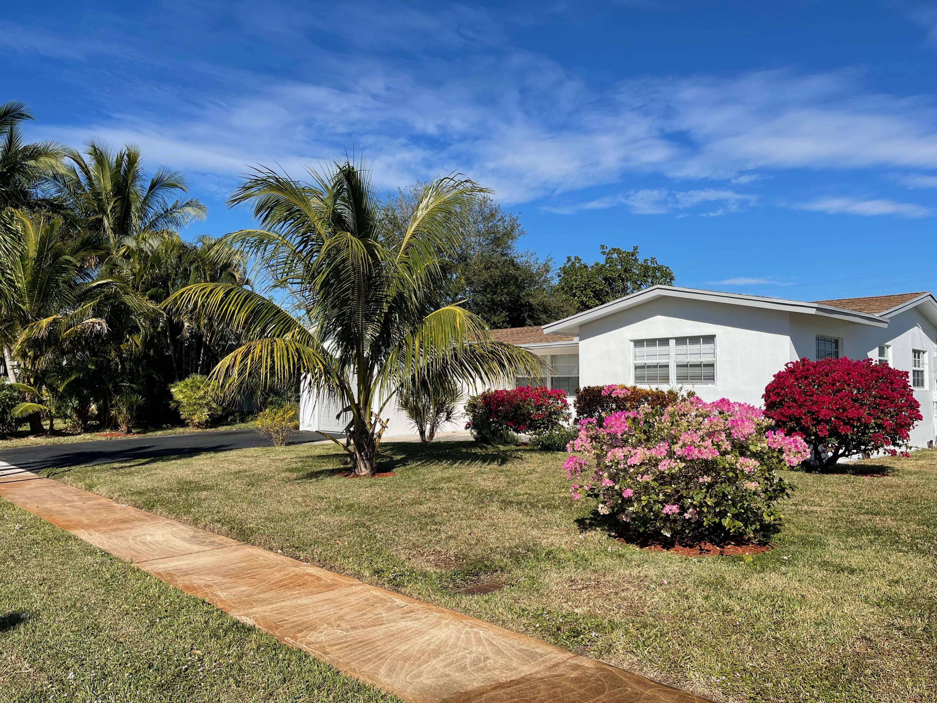
[(656, 385), (671, 382), (679, 385), (714, 384), (716, 337), (635, 340), (634, 383)]

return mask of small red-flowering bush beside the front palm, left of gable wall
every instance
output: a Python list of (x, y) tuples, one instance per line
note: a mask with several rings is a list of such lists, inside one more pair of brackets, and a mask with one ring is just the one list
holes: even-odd
[(476, 439), (491, 443), (509, 441), (515, 433), (542, 435), (570, 420), (565, 393), (528, 386), (471, 396), (466, 414), (466, 428)]

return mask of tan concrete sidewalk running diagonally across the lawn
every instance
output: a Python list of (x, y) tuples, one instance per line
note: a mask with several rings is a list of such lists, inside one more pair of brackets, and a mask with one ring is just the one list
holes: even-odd
[(445, 608), (0, 467), (0, 498), (410, 701), (703, 703)]

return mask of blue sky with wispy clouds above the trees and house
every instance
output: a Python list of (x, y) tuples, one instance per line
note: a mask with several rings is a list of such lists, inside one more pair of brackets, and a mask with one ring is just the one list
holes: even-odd
[(937, 290), (937, 3), (14, 3), (0, 99), (28, 135), (135, 142), (249, 223), (253, 164), (364, 154), (382, 188), (463, 172), (524, 247), (600, 244), (684, 286)]

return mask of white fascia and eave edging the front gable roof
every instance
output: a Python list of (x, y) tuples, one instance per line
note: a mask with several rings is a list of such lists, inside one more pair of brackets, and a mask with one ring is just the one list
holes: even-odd
[[(930, 293), (927, 298), (932, 299)], [(855, 324), (869, 325), (872, 327), (887, 327), (886, 317), (880, 317), (875, 313), (863, 312), (846, 307), (839, 307), (826, 303), (808, 303), (802, 300), (784, 300), (783, 298), (768, 298), (761, 295), (743, 295), (741, 293), (702, 291), (695, 288), (678, 288), (677, 286), (651, 286), (644, 291), (626, 295), (610, 303), (593, 307), (585, 312), (580, 312), (572, 317), (550, 324), (543, 325), (543, 332), (546, 335), (567, 334), (578, 335), (579, 325), (586, 322), (599, 320), (608, 315), (613, 315), (621, 310), (630, 307), (637, 307), (649, 303), (652, 300), (660, 298), (682, 298), (685, 300), (699, 300), (713, 303), (723, 303), (726, 305), (736, 305), (745, 307), (761, 307), (769, 310), (782, 310), (785, 312), (798, 312), (805, 315), (818, 315), (820, 317), (835, 318)]]

